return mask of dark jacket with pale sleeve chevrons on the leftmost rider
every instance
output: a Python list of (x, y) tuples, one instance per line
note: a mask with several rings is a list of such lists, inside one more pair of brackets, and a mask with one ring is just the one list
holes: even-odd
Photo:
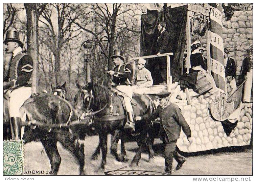
[(15, 88), (30, 86), (30, 78), (33, 71), (33, 60), (25, 53), (19, 52), (10, 60), (9, 68), (4, 81), (16, 80)]

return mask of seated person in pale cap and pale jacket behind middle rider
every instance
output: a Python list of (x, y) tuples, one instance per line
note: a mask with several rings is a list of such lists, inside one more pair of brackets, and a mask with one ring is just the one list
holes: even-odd
[(135, 76), (135, 85), (138, 87), (152, 86), (153, 79), (151, 73), (145, 68), (146, 60), (140, 58), (138, 60), (138, 71)]

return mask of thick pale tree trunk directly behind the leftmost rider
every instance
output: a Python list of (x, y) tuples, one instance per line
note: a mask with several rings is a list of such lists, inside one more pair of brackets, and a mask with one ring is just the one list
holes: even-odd
[(35, 3), (24, 3), (27, 14), (27, 53), (33, 59), (32, 93), (37, 92), (38, 12)]

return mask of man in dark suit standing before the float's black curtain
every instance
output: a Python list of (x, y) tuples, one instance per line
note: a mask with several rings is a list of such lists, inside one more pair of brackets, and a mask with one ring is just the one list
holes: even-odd
[[(166, 24), (164, 22), (160, 22), (160, 24), (158, 25), (158, 31), (160, 32), (160, 36), (158, 37), (157, 44), (156, 44), (157, 55), (168, 53), (169, 52), (169, 48), (168, 48), (169, 33), (166, 30)], [(163, 83), (161, 84), (166, 84), (166, 80), (167, 80), (166, 57), (159, 58), (159, 68), (160, 68), (161, 77), (163, 79)]]

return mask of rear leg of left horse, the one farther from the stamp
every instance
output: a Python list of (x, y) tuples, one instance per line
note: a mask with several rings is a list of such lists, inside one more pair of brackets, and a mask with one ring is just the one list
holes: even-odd
[(58, 137), (58, 140), (61, 142), (62, 146), (68, 149), (75, 156), (77, 162), (79, 163), (79, 175), (86, 175), (84, 170), (85, 166), (85, 151), (84, 143), (79, 142), (79, 139), (74, 136), (62, 135)]

